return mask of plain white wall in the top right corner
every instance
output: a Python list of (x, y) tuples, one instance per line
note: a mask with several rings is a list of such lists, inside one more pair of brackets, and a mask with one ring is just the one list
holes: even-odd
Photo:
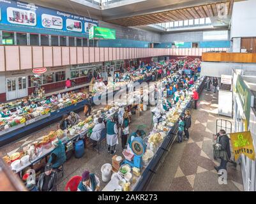
[(256, 0), (235, 2), (231, 24), (231, 38), (256, 36)]

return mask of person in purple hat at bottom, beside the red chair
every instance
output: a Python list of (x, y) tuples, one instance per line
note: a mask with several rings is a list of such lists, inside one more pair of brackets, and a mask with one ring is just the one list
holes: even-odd
[(82, 180), (77, 187), (77, 191), (99, 191), (100, 190), (100, 179), (89, 171), (82, 173)]

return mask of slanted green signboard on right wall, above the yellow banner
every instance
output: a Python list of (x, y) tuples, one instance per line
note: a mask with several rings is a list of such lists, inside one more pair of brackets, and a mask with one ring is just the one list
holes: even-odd
[(243, 110), (245, 112), (246, 120), (247, 122), (249, 122), (252, 94), (240, 75), (237, 75), (236, 92), (237, 94), (239, 94), (239, 97), (242, 101)]

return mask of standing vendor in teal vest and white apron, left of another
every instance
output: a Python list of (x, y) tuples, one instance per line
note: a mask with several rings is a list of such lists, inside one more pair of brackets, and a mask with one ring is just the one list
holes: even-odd
[(114, 122), (114, 118), (111, 117), (110, 120), (107, 121), (107, 144), (109, 145), (107, 150), (110, 154), (116, 153), (116, 145), (118, 145), (117, 133), (116, 122)]

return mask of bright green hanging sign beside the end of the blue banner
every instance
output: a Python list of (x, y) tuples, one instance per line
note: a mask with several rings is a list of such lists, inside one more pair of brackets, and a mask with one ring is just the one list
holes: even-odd
[(112, 39), (116, 40), (116, 30), (106, 27), (93, 26), (89, 31), (89, 39)]

